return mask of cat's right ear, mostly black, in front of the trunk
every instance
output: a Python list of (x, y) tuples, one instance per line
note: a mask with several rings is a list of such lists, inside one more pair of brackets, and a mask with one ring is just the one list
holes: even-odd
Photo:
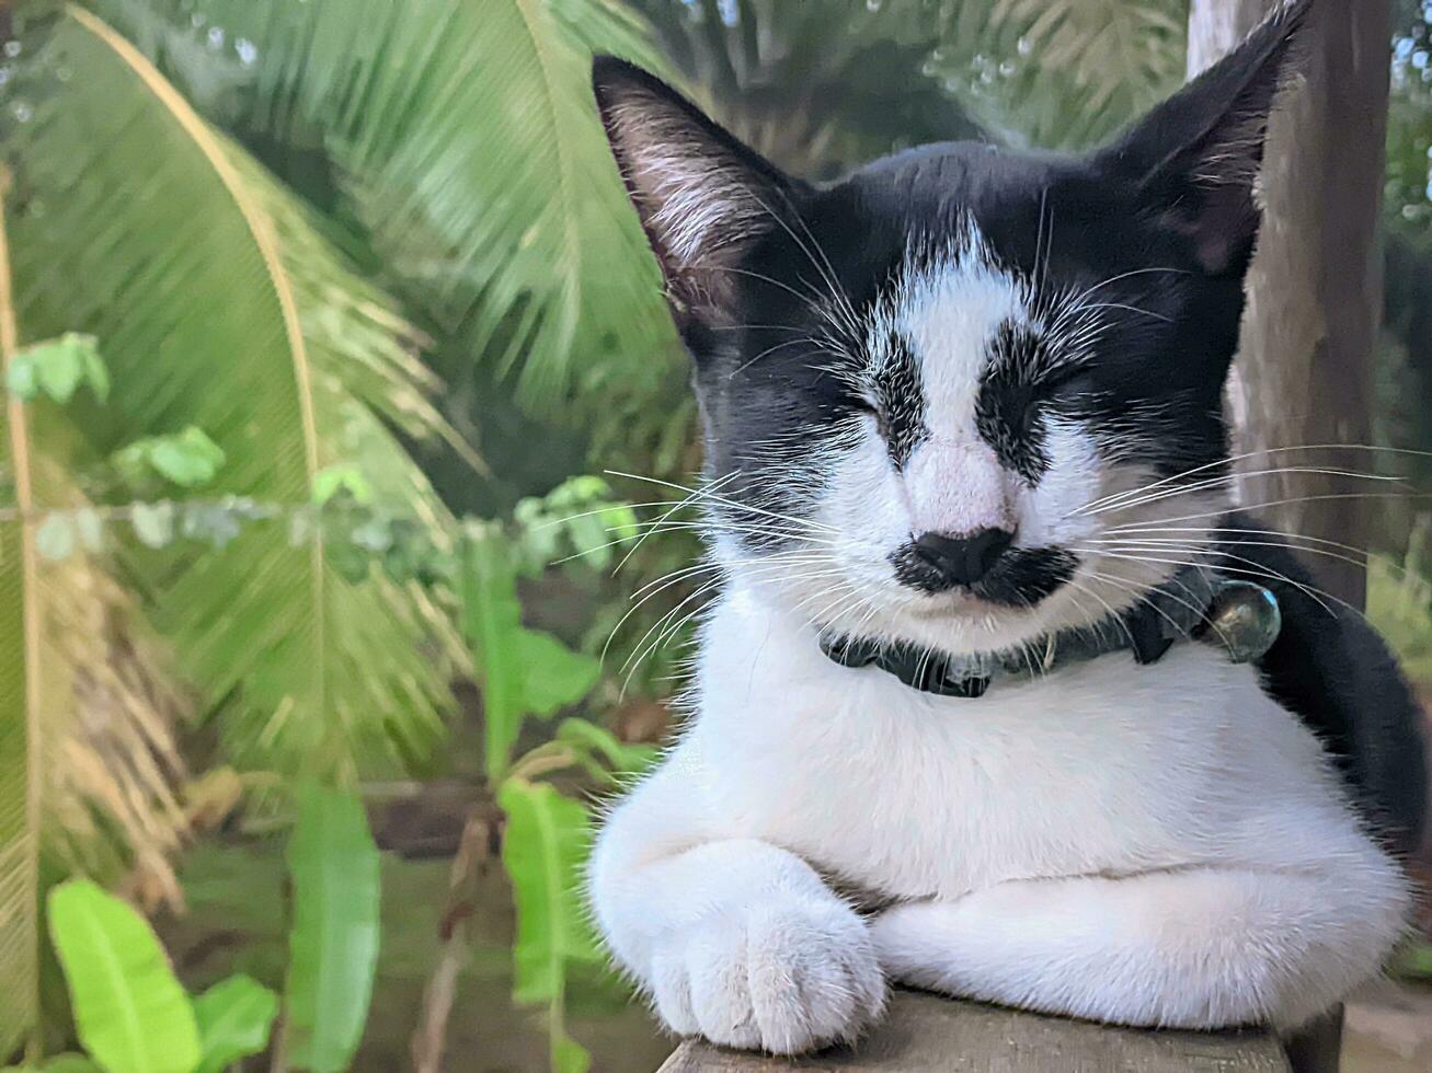
[(1143, 207), (1193, 240), (1210, 275), (1242, 275), (1262, 223), (1269, 116), (1299, 69), (1313, 0), (1286, 0), (1236, 50), (1098, 156), (1134, 179)]

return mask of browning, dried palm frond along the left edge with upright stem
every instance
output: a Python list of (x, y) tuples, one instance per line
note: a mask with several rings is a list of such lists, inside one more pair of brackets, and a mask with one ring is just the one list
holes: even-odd
[[(0, 192), (0, 356), (19, 348)], [(89, 555), (47, 561), (47, 509), (83, 509), (29, 406), (6, 403), (0, 472), (0, 1056), (42, 1021), (40, 904), (46, 876), (115, 878), (137, 867), (179, 900), (169, 858), (186, 820), (173, 741), (182, 702), (133, 599)], [(53, 422), (52, 422), (53, 423)]]

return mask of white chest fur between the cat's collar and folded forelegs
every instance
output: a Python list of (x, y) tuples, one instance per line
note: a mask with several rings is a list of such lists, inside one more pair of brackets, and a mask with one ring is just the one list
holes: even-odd
[(895, 897), (1012, 878), (1296, 866), (1349, 818), (1313, 737), (1211, 647), (1111, 654), (978, 700), (839, 667), (736, 592), (680, 753), (732, 834)]

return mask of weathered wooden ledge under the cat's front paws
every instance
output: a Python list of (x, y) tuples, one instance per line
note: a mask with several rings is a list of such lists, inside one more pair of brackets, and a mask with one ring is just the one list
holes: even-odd
[(662, 1073), (1289, 1073), (1264, 1033), (1107, 1029), (899, 991), (889, 1016), (853, 1050), (772, 1059), (683, 1043)]

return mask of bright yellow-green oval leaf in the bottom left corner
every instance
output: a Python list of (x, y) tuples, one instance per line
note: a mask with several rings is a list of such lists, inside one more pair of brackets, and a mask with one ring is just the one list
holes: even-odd
[(192, 1073), (193, 1007), (149, 923), (89, 880), (54, 887), (47, 904), (84, 1049), (109, 1073)]

